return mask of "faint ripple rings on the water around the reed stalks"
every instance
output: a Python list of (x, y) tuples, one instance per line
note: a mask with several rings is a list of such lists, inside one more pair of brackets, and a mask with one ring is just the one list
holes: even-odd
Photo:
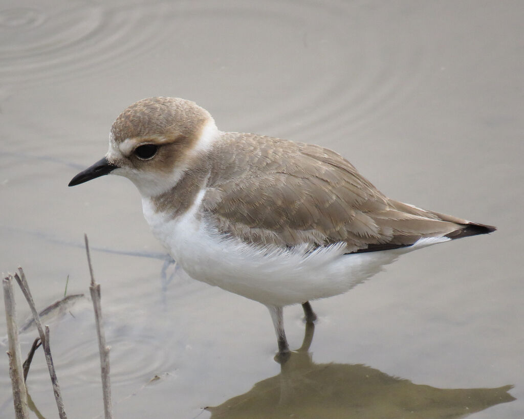
[[(107, 301), (106, 301), (107, 303)], [(121, 310), (122, 308), (122, 310)], [(177, 347), (183, 344), (176, 334), (166, 334), (157, 325), (162, 323), (151, 310), (149, 321), (120, 315), (129, 313), (123, 307), (118, 312), (105, 310), (106, 343), (111, 347), (111, 382), (113, 385), (147, 382), (155, 374), (176, 369)], [(116, 316), (117, 318), (113, 317)], [(51, 327), (54, 365), (60, 380), (67, 385), (100, 382), (100, 356), (90, 304), (82, 304), (73, 316), (64, 317)], [(36, 332), (21, 335), (23, 352), (30, 346)], [(32, 362), (30, 382), (47, 385), (48, 371), (43, 355), (37, 352)]]

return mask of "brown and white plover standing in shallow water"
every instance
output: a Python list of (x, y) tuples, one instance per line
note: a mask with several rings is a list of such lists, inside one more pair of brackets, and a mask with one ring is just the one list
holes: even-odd
[(128, 106), (106, 155), (69, 186), (128, 178), (152, 234), (190, 277), (267, 306), (277, 356), (289, 354), (283, 307), (342, 294), (400, 255), (496, 228), (392, 200), (338, 153), (220, 131), (196, 103)]

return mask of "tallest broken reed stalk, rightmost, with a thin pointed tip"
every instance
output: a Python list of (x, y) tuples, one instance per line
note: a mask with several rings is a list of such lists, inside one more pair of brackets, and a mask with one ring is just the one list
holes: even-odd
[(91, 299), (93, 300), (93, 308), (95, 312), (95, 322), (96, 322), (96, 334), (99, 339), (99, 352), (100, 352), (100, 369), (102, 376), (102, 394), (104, 397), (104, 415), (106, 419), (113, 417), (112, 407), (111, 407), (111, 382), (109, 377), (109, 351), (110, 347), (105, 343), (105, 333), (102, 326), (102, 305), (100, 302), (100, 284), (95, 282), (93, 275), (93, 267), (91, 265), (91, 255), (89, 252), (89, 242), (88, 235), (84, 234), (85, 241), (85, 252), (88, 256), (89, 264), (89, 273), (91, 275), (91, 285), (89, 286), (89, 291), (91, 292)]

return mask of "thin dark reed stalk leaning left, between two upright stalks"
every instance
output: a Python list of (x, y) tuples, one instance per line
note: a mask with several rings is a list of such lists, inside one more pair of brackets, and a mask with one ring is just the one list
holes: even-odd
[[(18, 273), (20, 275), (18, 275)], [(29, 290), (29, 285), (27, 284), (24, 270), (21, 267), (18, 267), (18, 273), (15, 273), (16, 282), (18, 282), (20, 289), (26, 297), (27, 304), (29, 304), (29, 308), (31, 309), (31, 313), (35, 319), (35, 325), (38, 329), (40, 340), (42, 341), (43, 353), (46, 356), (47, 369), (49, 370), (51, 384), (53, 385), (54, 400), (57, 402), (58, 415), (60, 416), (60, 419), (67, 419), (64, 409), (64, 402), (62, 400), (62, 393), (60, 392), (60, 386), (58, 385), (57, 374), (54, 371), (53, 358), (51, 357), (51, 346), (49, 345), (49, 326), (46, 325), (46, 331), (44, 332), (42, 323), (40, 322), (40, 316), (38, 315), (35, 302), (32, 298), (31, 291)]]

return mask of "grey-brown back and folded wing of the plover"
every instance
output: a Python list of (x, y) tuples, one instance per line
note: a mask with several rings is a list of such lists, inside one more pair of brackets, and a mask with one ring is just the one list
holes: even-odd
[(288, 247), (344, 241), (355, 252), (406, 246), (468, 224), (389, 200), (350, 162), (320, 146), (228, 133), (215, 157), (203, 208), (223, 233), (245, 241)]

